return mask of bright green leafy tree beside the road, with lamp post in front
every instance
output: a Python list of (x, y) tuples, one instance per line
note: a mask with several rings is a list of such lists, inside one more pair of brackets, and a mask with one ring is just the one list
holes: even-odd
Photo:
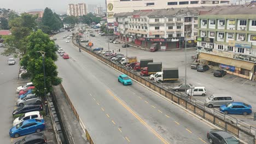
[(46, 93), (51, 92), (52, 86), (59, 85), (61, 78), (57, 77), (57, 61), (56, 49), (54, 41), (50, 40), (49, 36), (43, 33), (40, 29), (31, 33), (27, 37), (27, 53), (22, 57), (20, 64), (27, 68), (31, 74), (31, 81), (36, 87), (35, 93), (44, 95), (44, 74), (43, 74), (43, 57), (37, 51), (45, 52), (45, 81)]

